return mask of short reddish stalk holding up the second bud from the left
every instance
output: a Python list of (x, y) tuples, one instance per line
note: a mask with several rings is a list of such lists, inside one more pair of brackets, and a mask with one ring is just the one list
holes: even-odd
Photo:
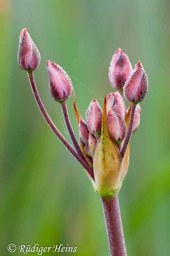
[(78, 154), (81, 156), (81, 158), (85, 160), (85, 157), (83, 156), (83, 153), (78, 145), (78, 142), (76, 140), (76, 136), (74, 134), (74, 131), (73, 131), (73, 128), (71, 126), (71, 122), (69, 120), (69, 115), (68, 115), (68, 111), (67, 111), (67, 100), (64, 100), (62, 103), (61, 103), (61, 108), (62, 108), (62, 113), (63, 113), (63, 116), (64, 116), (64, 121), (66, 123), (66, 126), (67, 126), (67, 130), (69, 132), (69, 136), (71, 138), (71, 140), (73, 141), (73, 144), (74, 144), (74, 147), (76, 148), (76, 151), (78, 152)]

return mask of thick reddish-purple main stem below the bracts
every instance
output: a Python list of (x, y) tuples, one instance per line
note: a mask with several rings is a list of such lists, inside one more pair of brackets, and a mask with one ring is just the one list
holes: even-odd
[(118, 196), (114, 196), (110, 199), (101, 197), (101, 200), (103, 204), (103, 212), (110, 246), (110, 255), (127, 256)]

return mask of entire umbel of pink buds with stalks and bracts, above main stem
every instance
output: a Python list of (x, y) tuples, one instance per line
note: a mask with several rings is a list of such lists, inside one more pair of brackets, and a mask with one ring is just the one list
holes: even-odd
[(104, 98), (103, 109), (96, 99), (90, 102), (86, 113), (86, 122), (80, 115), (75, 102), (74, 113), (78, 122), (79, 140), (74, 135), (66, 100), (73, 92), (73, 84), (64, 69), (52, 61), (47, 61), (50, 93), (54, 100), (60, 102), (67, 130), (74, 148), (60, 134), (57, 127), (39, 98), (34, 81), (33, 71), (40, 63), (39, 51), (27, 32), (22, 29), (18, 47), (18, 64), (28, 72), (32, 92), (45, 117), (46, 122), (60, 141), (83, 166), (92, 180), (94, 189), (103, 198), (111, 198), (118, 194), (129, 166), (130, 139), (132, 132), (139, 127), (141, 107), (148, 92), (148, 78), (139, 61), (134, 70), (128, 56), (119, 48), (112, 57), (109, 69), (111, 86), (120, 93), (124, 90), (130, 104), (126, 109), (124, 95), (111, 92)]

